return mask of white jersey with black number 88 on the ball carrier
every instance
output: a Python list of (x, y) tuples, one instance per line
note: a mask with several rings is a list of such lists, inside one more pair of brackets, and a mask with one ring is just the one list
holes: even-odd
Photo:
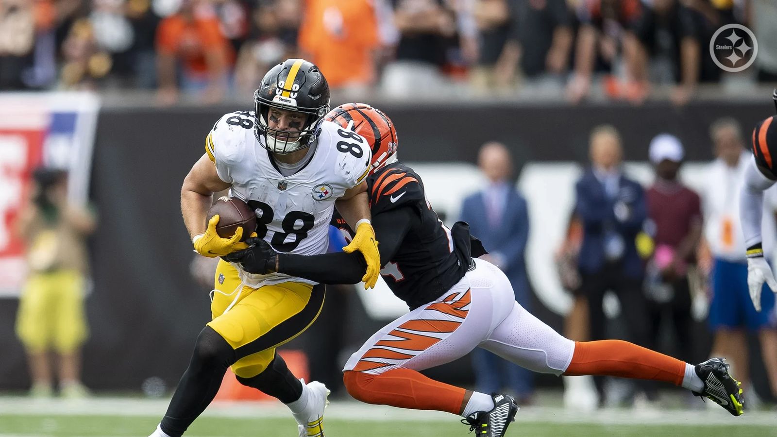
[[(369, 173), (367, 141), (338, 124), (323, 121), (308, 164), (284, 177), (254, 135), (254, 123), (253, 111), (237, 111), (225, 114), (214, 125), (205, 149), (218, 177), (232, 184), (230, 195), (253, 208), (256, 232), (275, 250), (300, 255), (325, 253), (335, 201)], [(240, 264), (234, 265), (243, 283), (253, 288), (284, 281), (315, 284), (287, 274), (249, 274)]]

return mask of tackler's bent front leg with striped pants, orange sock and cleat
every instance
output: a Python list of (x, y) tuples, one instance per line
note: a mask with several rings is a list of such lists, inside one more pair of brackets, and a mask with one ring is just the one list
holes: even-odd
[(464, 417), (478, 435), (504, 435), (517, 412), (512, 397), (472, 392), (419, 372), (466, 355), (496, 326), (493, 317), (507, 316), (510, 306), (494, 304), (486, 274), (490, 271), (469, 272), (441, 298), (373, 335), (346, 364), (348, 393), (368, 404), (447, 411)]

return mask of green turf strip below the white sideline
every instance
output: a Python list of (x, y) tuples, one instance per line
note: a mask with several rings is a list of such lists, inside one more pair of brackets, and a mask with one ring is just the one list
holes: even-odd
[[(332, 419), (326, 421), (326, 435), (333, 437), (369, 436), (394, 437), (448, 437), (467, 435), (468, 428), (458, 424), (455, 418), (443, 421), (357, 421)], [(159, 418), (122, 416), (54, 416), (44, 418), (30, 415), (0, 415), (0, 435), (75, 436), (144, 436), (154, 428)], [(747, 425), (599, 425), (554, 424), (552, 422), (517, 421), (507, 435), (527, 437), (652, 437), (652, 436), (704, 436), (732, 437), (737, 435), (768, 437), (777, 435), (775, 426)], [(186, 433), (191, 437), (294, 437), (296, 428), (291, 419), (280, 418), (211, 418), (197, 420)]]

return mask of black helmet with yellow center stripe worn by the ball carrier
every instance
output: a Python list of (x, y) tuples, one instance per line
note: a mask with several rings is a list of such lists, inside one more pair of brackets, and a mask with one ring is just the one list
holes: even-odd
[(253, 100), (260, 144), (270, 152), (291, 153), (315, 141), (329, 111), (329, 85), (311, 62), (287, 59), (264, 75)]

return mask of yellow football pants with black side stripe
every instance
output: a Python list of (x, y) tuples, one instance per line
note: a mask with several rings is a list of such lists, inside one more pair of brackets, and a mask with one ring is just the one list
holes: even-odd
[(237, 269), (218, 261), (211, 302), (213, 328), (235, 350), (232, 372), (242, 378), (259, 375), (275, 357), (275, 348), (294, 339), (319, 316), (323, 285), (283, 282), (251, 288)]

